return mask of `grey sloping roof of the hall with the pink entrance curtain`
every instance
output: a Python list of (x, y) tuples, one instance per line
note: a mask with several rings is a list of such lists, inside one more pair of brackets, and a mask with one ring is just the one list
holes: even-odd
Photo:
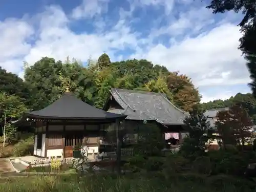
[(109, 112), (127, 115), (126, 119), (156, 120), (161, 124), (184, 124), (189, 114), (178, 109), (164, 94), (134, 90), (111, 89), (111, 95), (121, 106)]

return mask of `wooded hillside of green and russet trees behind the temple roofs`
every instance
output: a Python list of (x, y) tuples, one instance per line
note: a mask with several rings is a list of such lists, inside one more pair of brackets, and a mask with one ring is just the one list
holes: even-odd
[(83, 101), (102, 108), (111, 88), (161, 92), (179, 108), (189, 111), (200, 101), (198, 90), (184, 74), (169, 72), (147, 60), (111, 62), (107, 54), (84, 67), (76, 60), (65, 62), (42, 58), (27, 67), (24, 81), (0, 69), (0, 91), (14, 94), (28, 109), (39, 110), (56, 100), (65, 88), (63, 82)]

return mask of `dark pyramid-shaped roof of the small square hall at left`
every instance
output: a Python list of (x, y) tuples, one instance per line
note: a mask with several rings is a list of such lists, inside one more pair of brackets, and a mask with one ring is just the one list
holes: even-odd
[(110, 120), (126, 117), (126, 115), (118, 115), (97, 109), (78, 99), (71, 92), (65, 92), (58, 100), (54, 101), (46, 108), (39, 111), (27, 112), (24, 116), (34, 119), (67, 120)]

